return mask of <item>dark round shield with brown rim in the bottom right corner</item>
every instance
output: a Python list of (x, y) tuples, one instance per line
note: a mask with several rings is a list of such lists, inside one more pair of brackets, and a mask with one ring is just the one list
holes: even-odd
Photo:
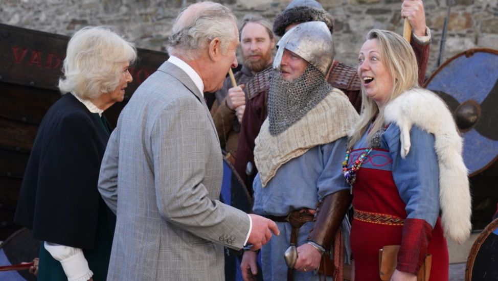
[(465, 268), (465, 281), (498, 280), (498, 219), (481, 232), (472, 245)]

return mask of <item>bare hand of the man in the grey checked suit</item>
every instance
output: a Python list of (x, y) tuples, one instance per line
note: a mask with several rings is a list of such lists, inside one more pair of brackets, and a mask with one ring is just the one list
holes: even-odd
[(268, 243), (271, 238), (271, 232), (275, 235), (280, 235), (280, 230), (274, 221), (254, 214), (249, 214), (249, 216), (253, 221), (253, 229), (251, 229), (249, 240), (247, 240), (247, 243), (253, 244), (251, 250), (259, 250), (261, 246)]

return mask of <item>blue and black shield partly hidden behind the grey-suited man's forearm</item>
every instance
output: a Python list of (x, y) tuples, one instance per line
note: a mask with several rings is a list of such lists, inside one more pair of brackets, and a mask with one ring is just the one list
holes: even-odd
[[(253, 206), (253, 199), (249, 195), (244, 182), (225, 157), (223, 157), (223, 182), (221, 183), (220, 201), (243, 210), (245, 213), (251, 213)], [(225, 249), (225, 280), (242, 281), (240, 271), (242, 256), (240, 254), (241, 252)], [(258, 276), (256, 279), (262, 280), (261, 254), (258, 254)]]

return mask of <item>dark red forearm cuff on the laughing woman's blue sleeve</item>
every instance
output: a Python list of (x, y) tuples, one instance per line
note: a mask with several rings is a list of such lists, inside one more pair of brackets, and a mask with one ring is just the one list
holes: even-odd
[(416, 275), (424, 261), (431, 237), (432, 227), (425, 220), (406, 219), (396, 269)]

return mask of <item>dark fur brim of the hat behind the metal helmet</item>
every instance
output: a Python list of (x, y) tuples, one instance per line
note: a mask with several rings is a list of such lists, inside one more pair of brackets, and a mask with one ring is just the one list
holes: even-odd
[(285, 28), (291, 24), (301, 24), (308, 21), (323, 21), (332, 34), (334, 30), (334, 20), (332, 16), (324, 9), (317, 9), (308, 6), (297, 6), (285, 9), (275, 17), (273, 23), (273, 32), (277, 36), (284, 36)]

